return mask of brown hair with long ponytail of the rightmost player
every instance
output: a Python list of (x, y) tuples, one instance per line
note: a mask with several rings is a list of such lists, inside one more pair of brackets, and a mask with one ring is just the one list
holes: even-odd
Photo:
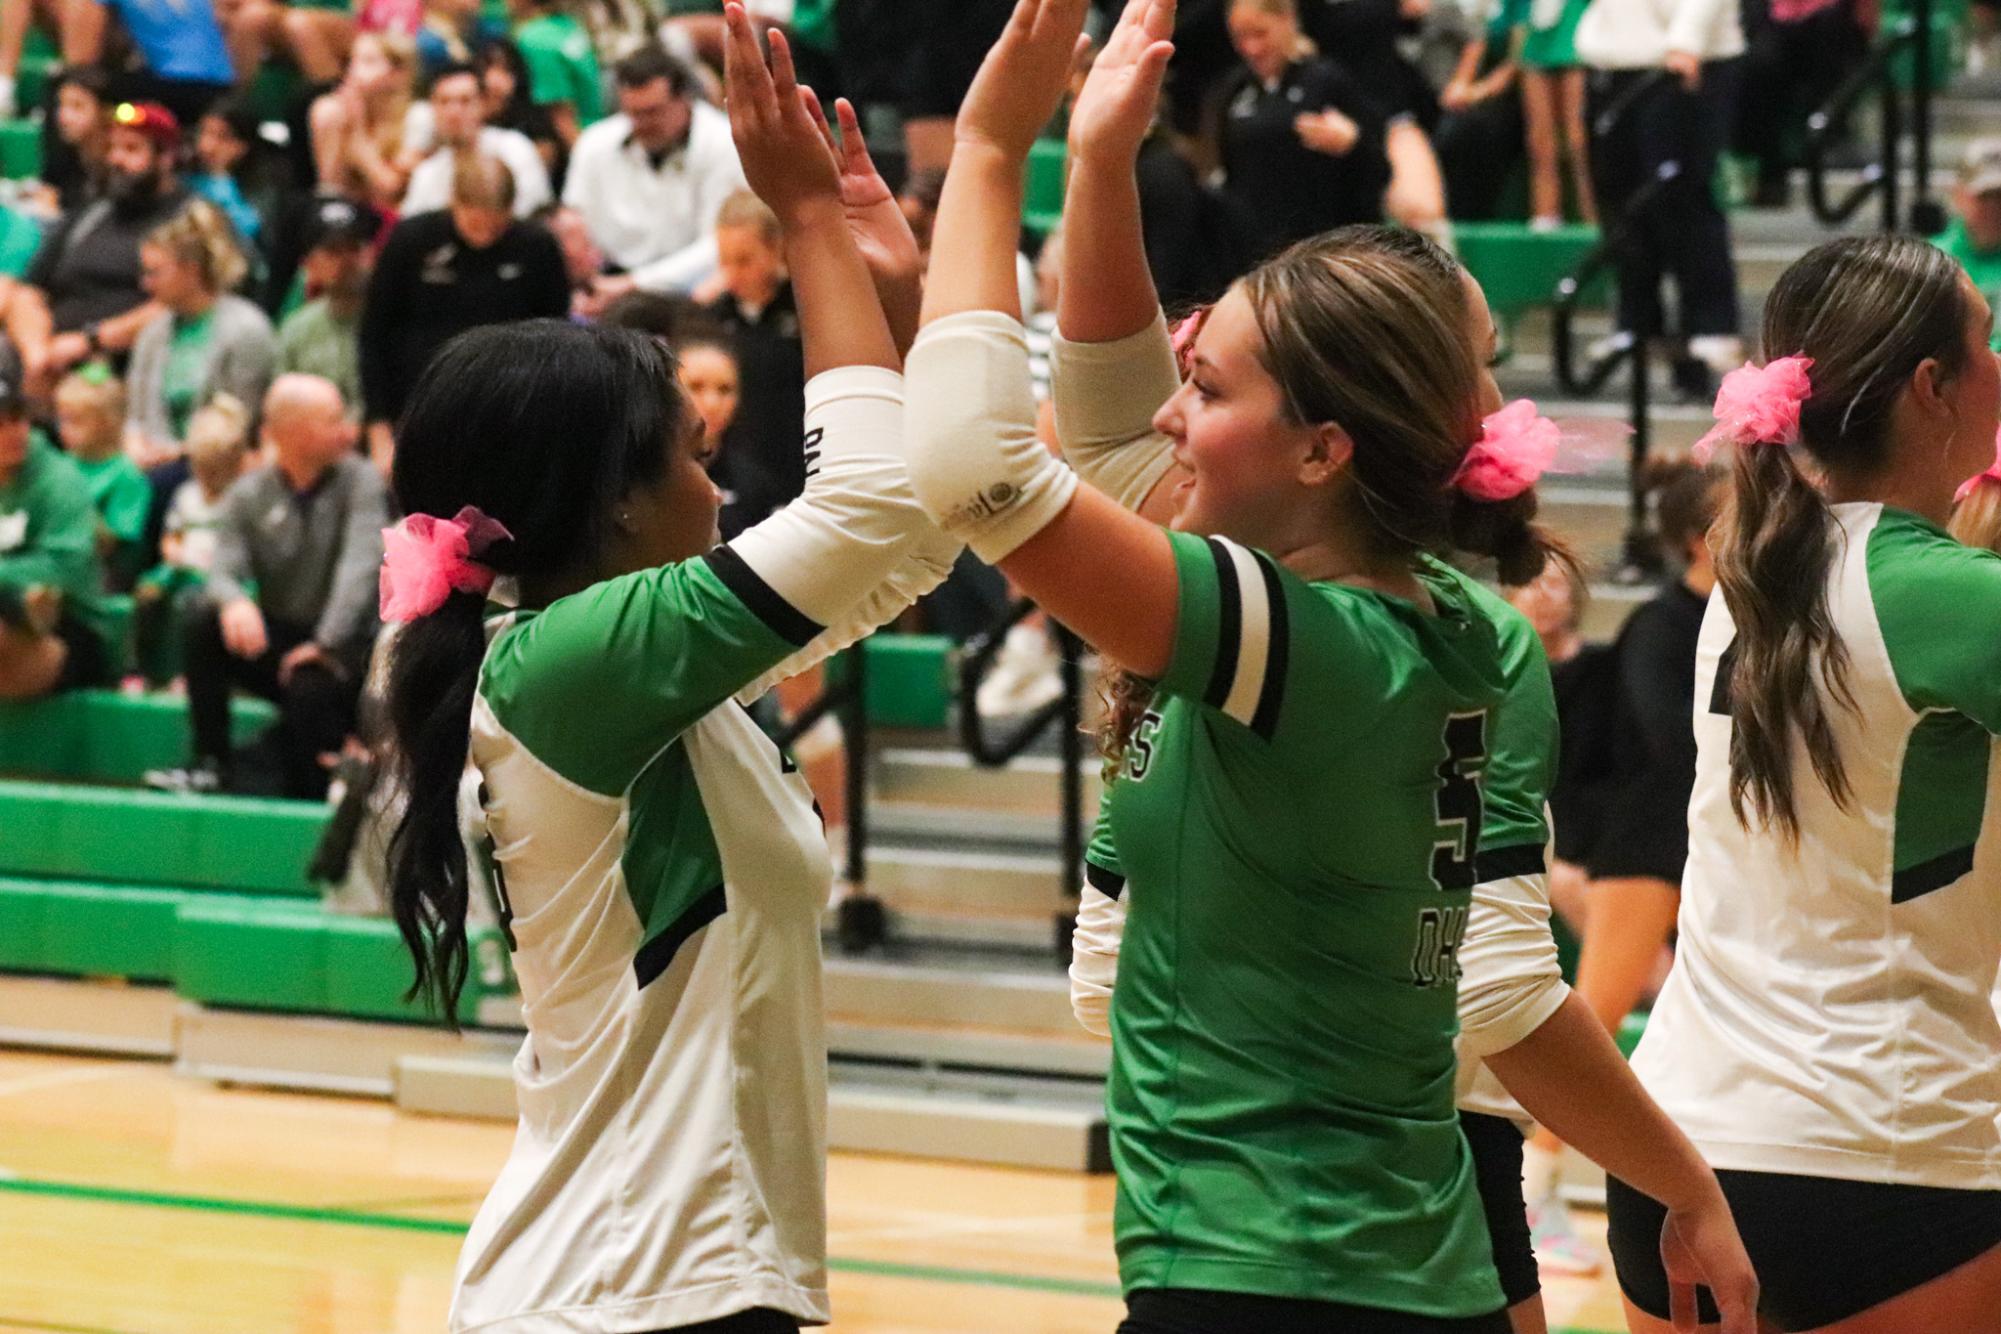
[[(1799, 438), (1849, 476), (1889, 456), (1891, 414), (1925, 360), (1963, 364), (1959, 266), (1909, 236), (1857, 236), (1809, 250), (1765, 302), (1765, 356), (1809, 356)], [(1737, 624), (1731, 670), (1731, 810), (1799, 840), (1793, 738), (1839, 806), (1851, 798), (1833, 708), (1855, 708), (1849, 652), (1827, 606), (1839, 534), (1821, 488), (1791, 450), (1737, 448), (1715, 532), (1717, 584)], [(1819, 664), (1819, 670), (1815, 670)]]

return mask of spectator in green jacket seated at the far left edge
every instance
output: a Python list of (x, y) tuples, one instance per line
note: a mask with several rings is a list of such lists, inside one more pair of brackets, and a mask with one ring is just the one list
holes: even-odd
[(0, 376), (0, 700), (32, 700), (108, 674), (90, 484), (28, 424)]

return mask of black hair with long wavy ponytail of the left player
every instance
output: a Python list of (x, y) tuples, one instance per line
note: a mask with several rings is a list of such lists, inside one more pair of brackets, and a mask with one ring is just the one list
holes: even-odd
[[(396, 432), (396, 502), (450, 518), (476, 506), (512, 536), (478, 560), (502, 578), (588, 576), (634, 486), (658, 482), (684, 430), (672, 358), (654, 338), (564, 320), (496, 324), (448, 342)], [(454, 592), (396, 630), (392, 766), (406, 794), (390, 838), (390, 912), (416, 964), (410, 996), (456, 1026), (470, 874), (458, 828), (484, 598)]]

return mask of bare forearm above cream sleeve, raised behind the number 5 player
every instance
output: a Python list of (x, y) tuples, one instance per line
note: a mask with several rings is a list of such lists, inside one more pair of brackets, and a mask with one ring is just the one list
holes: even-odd
[(1153, 324), (1159, 310), (1133, 162), (1079, 154), (1063, 202), (1057, 328), (1071, 342), (1113, 342)]

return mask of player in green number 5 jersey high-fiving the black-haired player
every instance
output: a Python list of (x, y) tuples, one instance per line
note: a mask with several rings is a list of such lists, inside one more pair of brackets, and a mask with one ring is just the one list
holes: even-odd
[[(1125, 714), (1145, 778), (1115, 802), (1157, 924), (1119, 992), (1157, 1020), (1121, 1028), (1139, 1072), (1115, 1108), (1127, 1328), (1507, 1330), (1453, 1116), (1503, 652), (1425, 552), (1533, 574), (1533, 496), (1457, 486), (1479, 434), (1463, 302), (1391, 254), (1295, 248), (1217, 306), (1159, 414), (1189, 464), (1179, 532), (1037, 444), (1009, 274), (1023, 158), (1083, 8), (1025, 0), (960, 110), (908, 454), (940, 526), (1153, 682), (1157, 720)], [(1121, 78), (1151, 106), (1173, 6), (1125, 22), (1147, 24)], [(1697, 1190), (1677, 1228), (1749, 1292), (1715, 1182), (1679, 1148), (1669, 1176)]]

